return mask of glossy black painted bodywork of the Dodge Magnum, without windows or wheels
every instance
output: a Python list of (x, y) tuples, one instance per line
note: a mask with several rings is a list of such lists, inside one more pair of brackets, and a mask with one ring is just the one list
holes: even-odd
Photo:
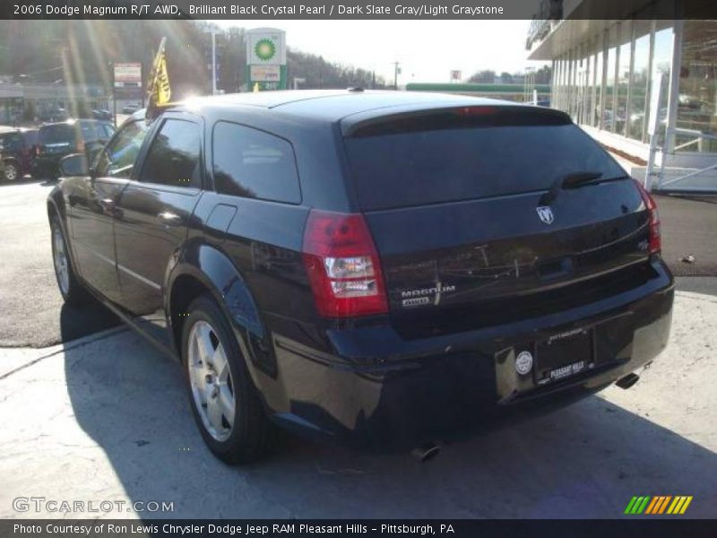
[[(380, 106), (400, 112), (483, 101), (435, 96), (406, 103), (409, 98), (367, 93), (354, 106), (341, 102), (346, 92), (296, 95), (301, 97), (261, 95), (251, 105), (230, 97), (205, 100), (165, 112), (162, 117), (202, 118), (202, 189), (136, 181), (151, 131), (133, 178), (64, 178), (49, 196), (48, 209), (60, 216), (83, 282), (161, 350), (178, 358), (177, 326), (187, 314), (186, 293), (208, 291), (231, 320), (274, 421), (303, 433), (384, 445), (389, 439), (445, 438), (481, 418), (521, 415), (592, 394), (644, 366), (666, 345), (672, 276), (659, 256), (635, 253), (618, 240), (625, 239), (621, 226), (637, 230), (633, 242), (644, 236), (644, 206), (628, 181), (561, 195), (556, 213), (573, 219), (565, 230), (558, 218), (549, 230), (536, 231), (535, 206), (542, 192), (489, 204), (367, 213), (389, 290), (427, 283), (420, 270), (406, 267), (416, 264), (409, 247), (423, 253), (418, 265), (428, 260), (436, 266), (463, 256), (465, 245), (472, 251), (479, 247), (471, 243), (468, 227), (455, 222), (480, 221), (487, 227), (497, 256), (481, 271), (493, 285), (471, 290), (469, 299), (453, 306), (447, 299), (439, 316), (404, 312), (392, 297), (387, 315), (319, 317), (302, 263), (302, 239), (312, 208), (358, 212), (345, 179), (350, 171), (341, 136), (383, 115)], [(272, 106), (277, 108), (266, 108)], [(293, 144), (301, 204), (213, 192), (211, 133), (219, 120), (253, 126)], [(455, 220), (446, 219), (446, 212)], [(157, 221), (160, 213), (176, 214), (182, 225)], [(546, 234), (556, 230), (560, 239)], [(612, 245), (617, 256), (609, 264), (600, 256), (592, 259), (590, 245), (581, 245), (585, 237)], [(82, 252), (93, 249), (99, 252)], [(550, 252), (570, 259), (581, 250), (592, 264), (583, 275), (560, 263), (545, 273), (540, 265), (525, 267), (523, 280), (514, 273), (517, 267), (505, 271), (506, 260)], [(531, 304), (535, 286), (549, 298), (546, 304)], [(530, 308), (521, 312), (523, 304)], [(515, 373), (517, 352), (576, 328), (593, 334), (594, 369), (549, 386)]]

